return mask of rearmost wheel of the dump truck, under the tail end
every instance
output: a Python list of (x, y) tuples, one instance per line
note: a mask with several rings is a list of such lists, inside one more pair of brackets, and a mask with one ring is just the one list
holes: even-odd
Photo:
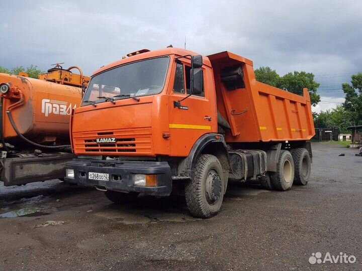
[(292, 151), (294, 161), (294, 184), (308, 184), (311, 174), (311, 161), (307, 149), (298, 148)]

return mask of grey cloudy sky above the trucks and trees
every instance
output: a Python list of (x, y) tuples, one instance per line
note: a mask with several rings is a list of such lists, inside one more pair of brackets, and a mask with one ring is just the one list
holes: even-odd
[(313, 72), (322, 102), (343, 102), (362, 71), (362, 2), (1, 0), (0, 66), (78, 65), (87, 75), (129, 52), (186, 47), (231, 51), (281, 75)]

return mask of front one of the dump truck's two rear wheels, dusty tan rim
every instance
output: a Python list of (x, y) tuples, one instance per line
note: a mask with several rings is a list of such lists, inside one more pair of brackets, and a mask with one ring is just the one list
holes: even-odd
[(282, 150), (277, 164), (277, 171), (270, 174), (274, 189), (287, 191), (292, 188), (294, 180), (294, 162), (289, 151)]

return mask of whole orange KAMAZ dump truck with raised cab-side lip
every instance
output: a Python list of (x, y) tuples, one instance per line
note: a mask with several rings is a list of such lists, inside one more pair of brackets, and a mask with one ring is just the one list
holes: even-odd
[(139, 193), (184, 194), (197, 217), (215, 215), (228, 181), (265, 189), (306, 185), (314, 135), (299, 96), (255, 80), (252, 61), (141, 50), (96, 71), (71, 116), (70, 183), (115, 203)]

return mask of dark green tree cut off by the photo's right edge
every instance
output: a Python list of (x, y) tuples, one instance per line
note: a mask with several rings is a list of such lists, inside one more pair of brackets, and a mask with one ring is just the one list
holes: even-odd
[(352, 125), (362, 124), (362, 72), (351, 76), (351, 85), (342, 84), (345, 93), (344, 108), (349, 112)]

